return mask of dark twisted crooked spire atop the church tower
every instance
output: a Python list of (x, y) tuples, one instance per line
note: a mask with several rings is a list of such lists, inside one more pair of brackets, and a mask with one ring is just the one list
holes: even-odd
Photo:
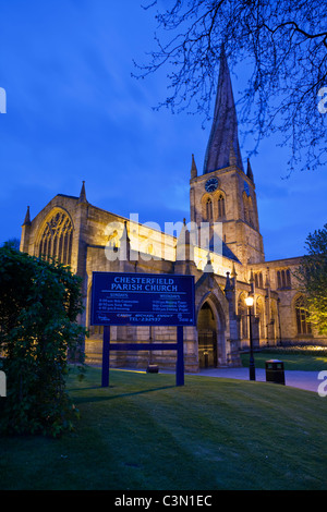
[(237, 109), (222, 46), (214, 121), (205, 156), (204, 174), (232, 164), (244, 172), (239, 145)]

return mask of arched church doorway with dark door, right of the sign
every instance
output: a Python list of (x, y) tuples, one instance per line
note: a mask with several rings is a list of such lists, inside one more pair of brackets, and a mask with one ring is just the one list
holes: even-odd
[(214, 312), (205, 302), (198, 312), (198, 366), (214, 368), (217, 366), (217, 330)]

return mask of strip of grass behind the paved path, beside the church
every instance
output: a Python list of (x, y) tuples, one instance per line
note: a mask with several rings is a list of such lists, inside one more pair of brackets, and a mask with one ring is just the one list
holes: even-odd
[[(283, 362), (286, 370), (320, 371), (327, 369), (327, 355), (325, 351), (292, 351), (292, 350), (269, 350), (254, 352), (254, 362), (256, 368), (265, 368), (265, 362), (268, 359), (280, 359)], [(249, 366), (249, 353), (241, 354), (242, 365)]]

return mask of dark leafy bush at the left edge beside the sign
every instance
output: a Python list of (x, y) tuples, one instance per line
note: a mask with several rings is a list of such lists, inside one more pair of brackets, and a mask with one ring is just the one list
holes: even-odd
[(0, 431), (57, 436), (73, 427), (76, 412), (65, 374), (68, 351), (76, 357), (85, 334), (76, 322), (81, 280), (62, 265), (4, 246), (0, 289), (0, 369), (8, 388)]

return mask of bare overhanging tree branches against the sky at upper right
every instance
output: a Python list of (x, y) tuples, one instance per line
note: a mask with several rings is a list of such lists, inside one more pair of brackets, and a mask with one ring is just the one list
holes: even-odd
[[(157, 5), (157, 0), (144, 9)], [(168, 69), (172, 94), (158, 108), (211, 113), (221, 47), (244, 84), (239, 121), (256, 137), (278, 132), (290, 145), (289, 170), (326, 162), (326, 8), (317, 0), (172, 0), (156, 13), (157, 49), (135, 76)], [(242, 68), (240, 66), (242, 64)], [(326, 99), (325, 99), (326, 98)], [(326, 103), (326, 106), (325, 106)], [(304, 154), (304, 155), (303, 155)], [(305, 157), (305, 158), (304, 158)]]

